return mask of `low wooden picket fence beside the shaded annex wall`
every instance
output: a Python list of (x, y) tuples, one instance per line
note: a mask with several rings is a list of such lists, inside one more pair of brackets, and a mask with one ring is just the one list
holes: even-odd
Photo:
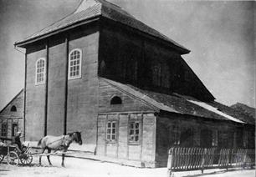
[(168, 174), (172, 171), (212, 168), (252, 167), (255, 149), (171, 148), (168, 156)]

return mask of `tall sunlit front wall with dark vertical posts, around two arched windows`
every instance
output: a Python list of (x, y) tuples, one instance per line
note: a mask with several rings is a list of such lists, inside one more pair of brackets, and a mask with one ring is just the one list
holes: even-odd
[[(44, 106), (47, 107), (47, 134), (64, 133), (64, 103), (67, 101), (67, 133), (82, 131), (83, 143), (96, 144), (98, 111), (98, 46), (97, 23), (74, 28), (69, 33), (59, 33), (39, 43), (27, 46), (27, 99), (26, 140), (44, 136)], [(68, 51), (67, 43), (68, 37)], [(35, 85), (35, 62), (46, 58), (49, 43), (48, 102), (45, 101), (46, 84)], [(66, 58), (74, 48), (82, 51), (81, 77), (68, 80), (65, 100)]]

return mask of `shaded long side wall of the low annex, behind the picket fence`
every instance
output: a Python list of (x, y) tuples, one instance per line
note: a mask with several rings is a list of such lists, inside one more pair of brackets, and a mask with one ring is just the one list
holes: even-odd
[[(175, 142), (177, 134), (175, 127), (179, 127), (179, 143)], [(197, 140), (199, 129), (200, 140)], [(212, 132), (218, 132), (217, 145), (212, 144)], [(248, 131), (248, 145), (243, 146), (243, 134)], [(234, 135), (237, 132), (237, 135)], [(202, 147), (202, 148), (254, 148), (255, 136), (253, 126), (229, 124), (223, 121), (207, 121), (202, 119), (186, 118), (179, 114), (160, 115), (156, 117), (156, 166), (166, 166), (168, 149), (172, 147)], [(234, 141), (236, 144), (234, 144)]]

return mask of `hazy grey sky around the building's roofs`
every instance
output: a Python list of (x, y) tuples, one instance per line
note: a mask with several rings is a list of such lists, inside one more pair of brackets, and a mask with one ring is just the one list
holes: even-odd
[[(255, 108), (255, 2), (109, 2), (190, 49), (192, 52), (182, 58), (216, 101)], [(80, 0), (0, 0), (0, 109), (24, 85), (25, 57), (13, 48), (13, 43), (73, 13), (79, 3)]]

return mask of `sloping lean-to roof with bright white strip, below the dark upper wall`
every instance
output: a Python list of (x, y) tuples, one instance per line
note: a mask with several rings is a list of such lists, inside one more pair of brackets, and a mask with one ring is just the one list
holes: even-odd
[[(118, 83), (107, 78), (100, 78), (125, 94), (130, 94), (152, 107), (177, 114), (187, 114), (206, 119), (228, 120), (240, 124), (255, 124), (244, 114), (238, 114), (228, 106), (217, 102), (205, 103), (180, 94), (160, 94), (142, 90), (129, 84)], [(229, 109), (228, 109), (229, 108)]]

